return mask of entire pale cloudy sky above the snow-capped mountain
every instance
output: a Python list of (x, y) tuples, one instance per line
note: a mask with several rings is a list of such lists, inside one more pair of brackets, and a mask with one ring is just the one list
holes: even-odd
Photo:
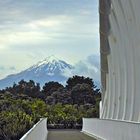
[(96, 71), (98, 19), (98, 0), (1, 0), (0, 79), (50, 55)]

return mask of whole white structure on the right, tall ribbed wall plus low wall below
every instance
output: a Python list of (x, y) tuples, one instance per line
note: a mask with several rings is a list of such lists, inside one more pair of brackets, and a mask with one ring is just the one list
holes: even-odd
[(105, 140), (140, 140), (140, 0), (100, 0), (101, 119), (83, 131)]

